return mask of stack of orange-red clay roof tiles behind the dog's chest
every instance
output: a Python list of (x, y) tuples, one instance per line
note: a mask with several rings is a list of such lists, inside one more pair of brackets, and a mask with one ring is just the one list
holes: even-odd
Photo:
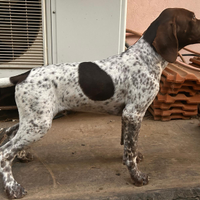
[(200, 69), (169, 64), (162, 73), (160, 91), (149, 111), (154, 120), (189, 119), (198, 113)]

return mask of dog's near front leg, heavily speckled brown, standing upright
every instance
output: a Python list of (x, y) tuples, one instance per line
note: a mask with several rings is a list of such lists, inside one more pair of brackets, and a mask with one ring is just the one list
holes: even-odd
[(138, 153), (137, 141), (144, 113), (130, 113), (128, 109), (123, 111), (122, 130), (124, 139), (123, 162), (126, 164), (132, 180), (136, 186), (148, 184), (148, 176), (141, 173), (137, 166)]

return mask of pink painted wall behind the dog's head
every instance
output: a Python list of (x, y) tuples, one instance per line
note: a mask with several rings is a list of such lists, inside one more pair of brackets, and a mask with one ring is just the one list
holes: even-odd
[[(128, 0), (127, 28), (143, 33), (150, 23), (158, 17), (165, 8), (180, 7), (193, 11), (200, 19), (200, 0)], [(129, 44), (133, 44), (134, 38), (127, 38)], [(190, 49), (200, 52), (200, 44), (188, 46)]]

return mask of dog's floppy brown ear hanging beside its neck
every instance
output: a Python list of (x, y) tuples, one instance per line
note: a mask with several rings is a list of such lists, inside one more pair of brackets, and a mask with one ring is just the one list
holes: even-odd
[(152, 43), (157, 53), (166, 61), (173, 63), (178, 56), (178, 39), (175, 18), (160, 24)]

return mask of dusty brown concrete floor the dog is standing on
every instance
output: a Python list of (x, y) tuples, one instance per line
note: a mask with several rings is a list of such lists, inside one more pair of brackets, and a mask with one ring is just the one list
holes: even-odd
[[(0, 122), (8, 127), (16, 122)], [(143, 120), (139, 169), (150, 175), (135, 187), (122, 164), (121, 117), (75, 113), (53, 121), (48, 134), (31, 146), (34, 160), (15, 162), (13, 174), (24, 199), (200, 199), (198, 119)], [(0, 199), (6, 199), (0, 180)]]

